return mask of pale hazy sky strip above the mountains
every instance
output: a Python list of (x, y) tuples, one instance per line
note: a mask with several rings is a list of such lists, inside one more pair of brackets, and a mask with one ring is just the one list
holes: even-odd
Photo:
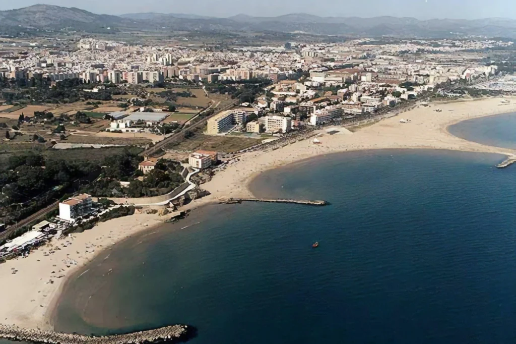
[(94, 13), (190, 13), (230, 17), (238, 13), (267, 17), (305, 12), (322, 16), (432, 18), (512, 18), (514, 0), (0, 0), (0, 10), (50, 4)]

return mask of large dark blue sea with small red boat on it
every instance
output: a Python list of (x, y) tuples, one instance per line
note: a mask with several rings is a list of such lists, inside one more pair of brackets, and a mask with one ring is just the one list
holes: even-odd
[[(455, 129), (482, 142), (497, 120)], [(69, 280), (55, 327), (182, 323), (197, 327), (192, 344), (514, 343), (516, 166), (494, 167), (504, 159), (368, 150), (266, 171), (256, 196), (330, 205), (206, 206), (142, 232)]]

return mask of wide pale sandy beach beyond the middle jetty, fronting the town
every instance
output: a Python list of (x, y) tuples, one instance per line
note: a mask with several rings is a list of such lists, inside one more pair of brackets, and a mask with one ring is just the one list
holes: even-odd
[[(253, 152), (243, 155), (236, 164), (229, 165), (223, 173), (203, 184), (211, 195), (201, 201), (212, 201), (220, 197), (252, 197), (248, 189), (250, 181), (263, 171), (300, 160), (336, 152), (365, 149), (447, 149), (458, 151), (498, 153), (516, 155), (516, 150), (486, 146), (451, 135), (447, 127), (463, 120), (516, 112), (516, 98), (506, 98), (511, 104), (499, 105), (501, 98), (474, 101), (431, 103), (420, 105), (413, 110), (394, 117), (384, 118), (370, 126), (348, 132), (344, 128), (339, 134), (329, 135), (321, 131), (317, 139), (321, 144), (313, 144), (313, 139), (303, 140), (274, 151)], [(436, 110), (442, 112), (436, 112)], [(409, 120), (400, 123), (400, 119)]]

